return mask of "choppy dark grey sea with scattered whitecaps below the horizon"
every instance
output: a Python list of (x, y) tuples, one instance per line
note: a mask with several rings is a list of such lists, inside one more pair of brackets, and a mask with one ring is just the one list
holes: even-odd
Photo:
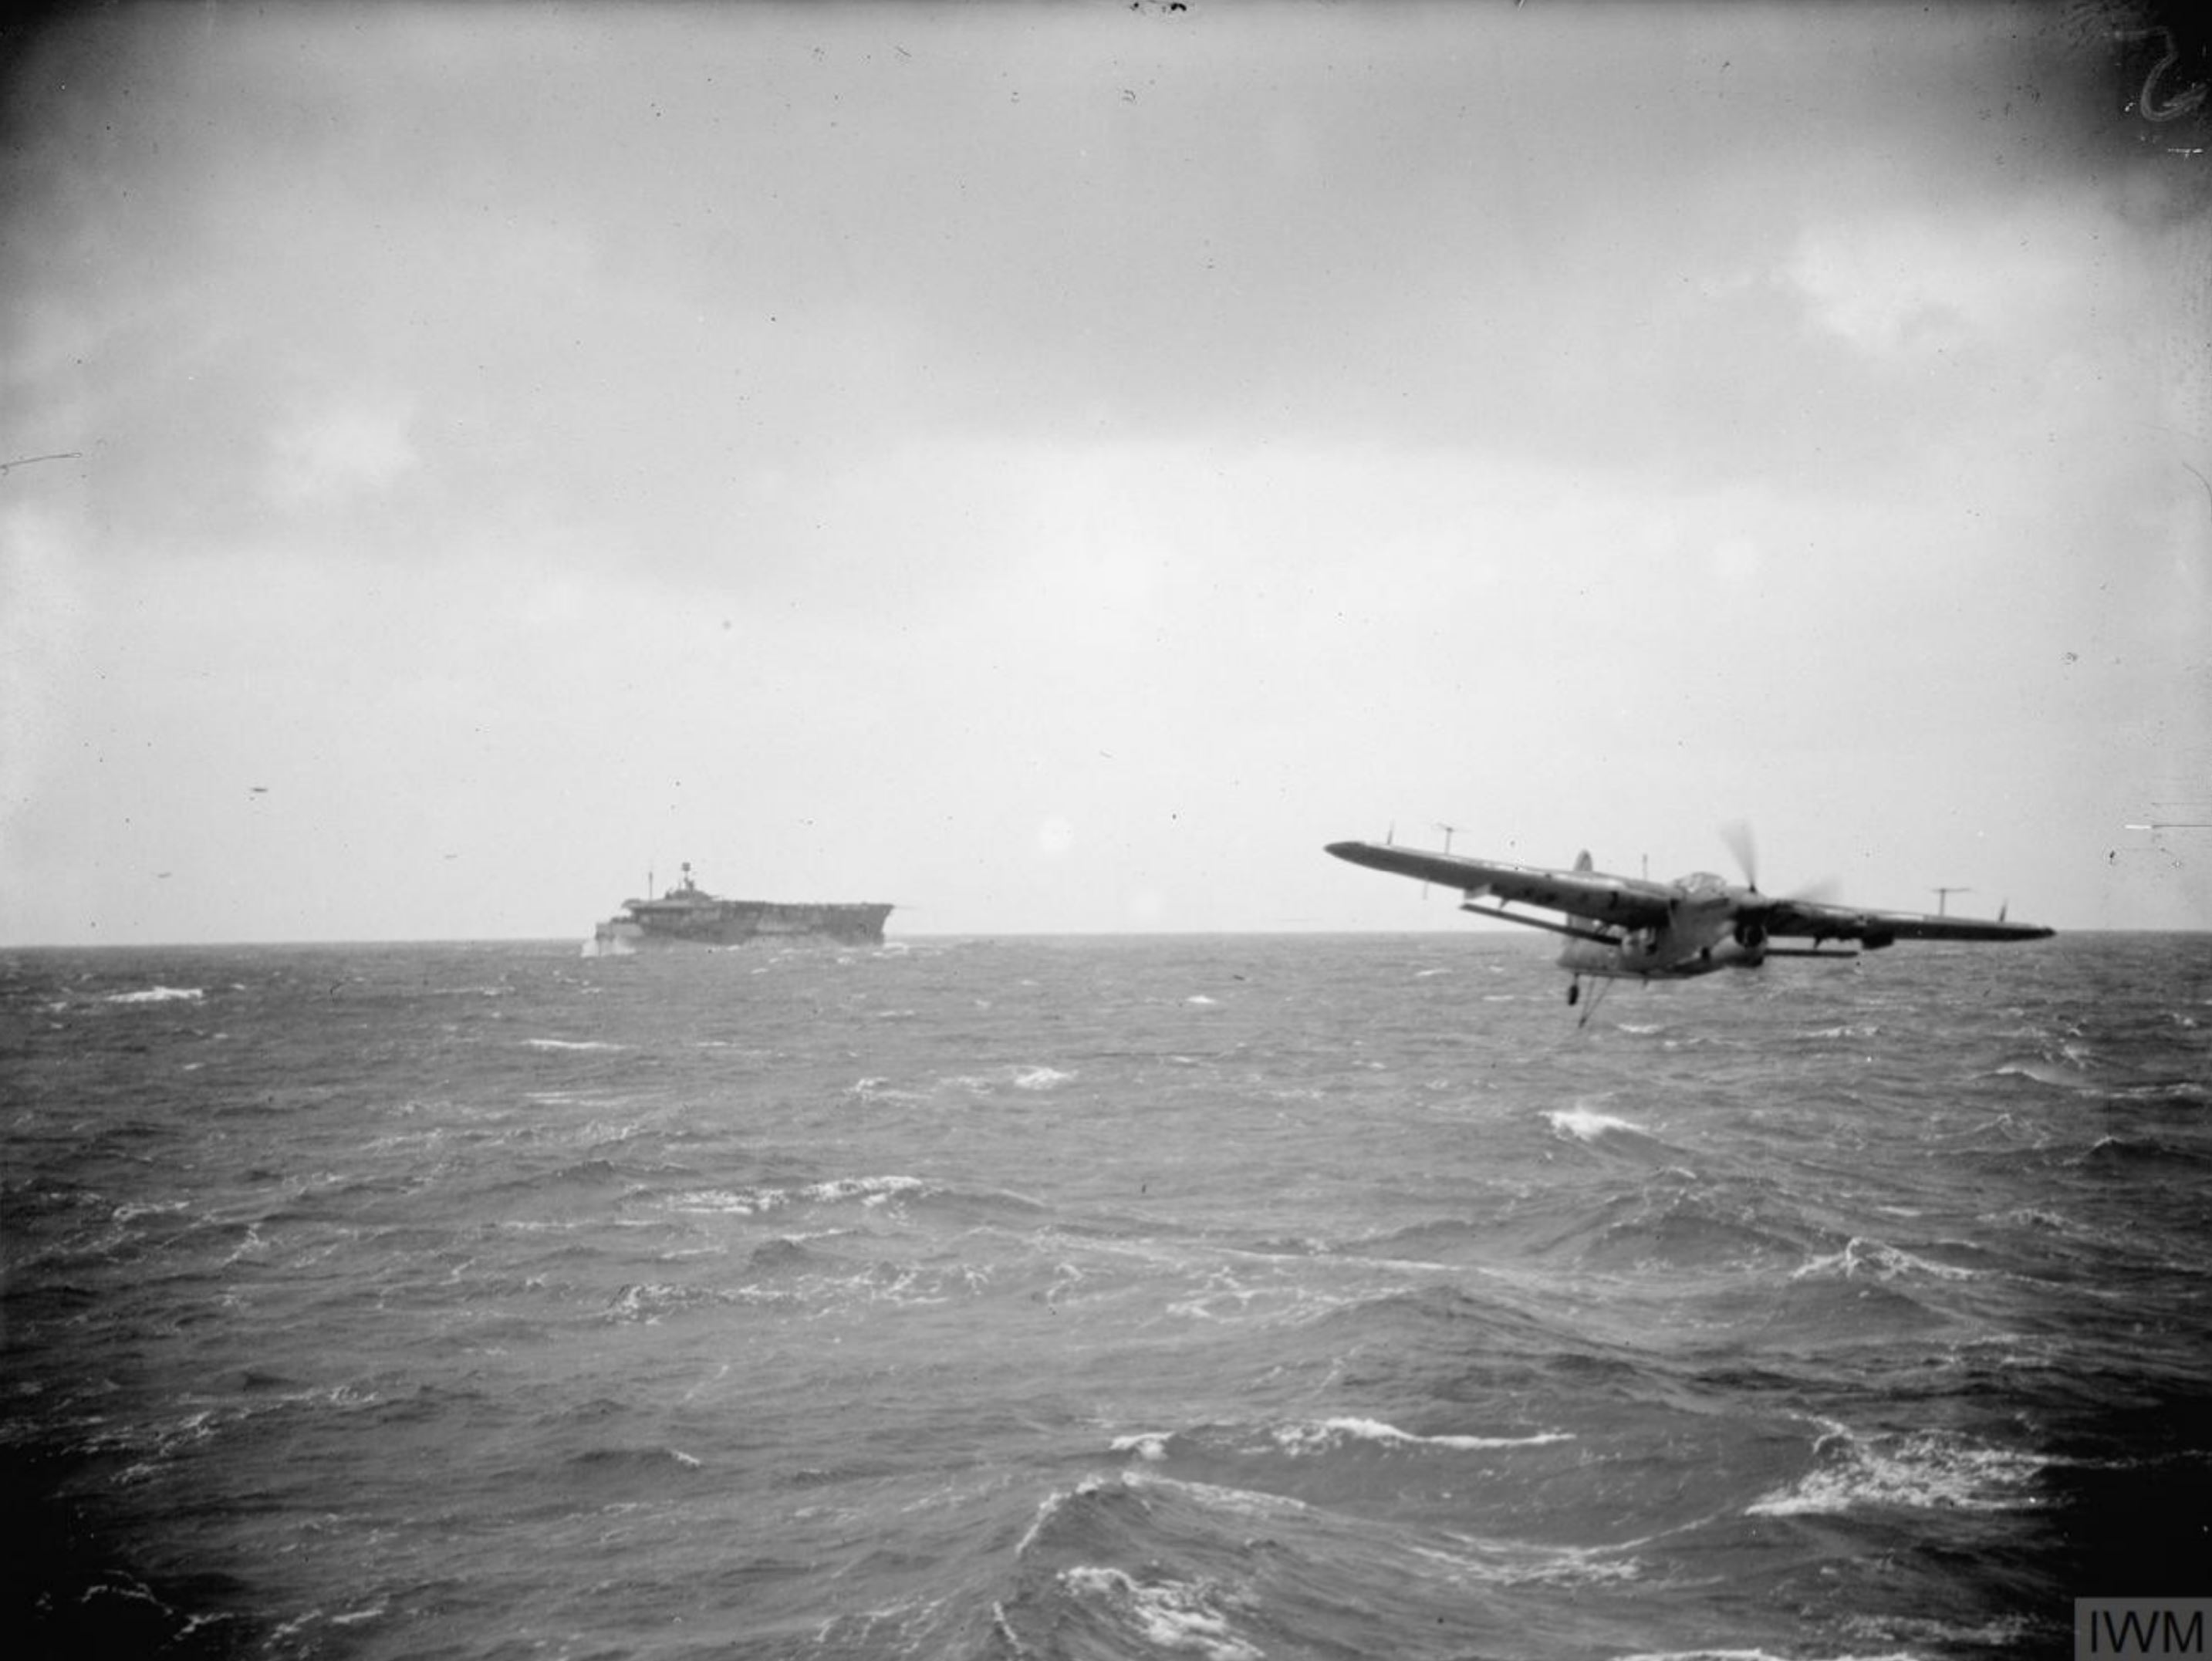
[[(2212, 1592), (2212, 936), (0, 953), (31, 1657), (2064, 1657)], [(1586, 1020), (1588, 1017), (1588, 1020)]]

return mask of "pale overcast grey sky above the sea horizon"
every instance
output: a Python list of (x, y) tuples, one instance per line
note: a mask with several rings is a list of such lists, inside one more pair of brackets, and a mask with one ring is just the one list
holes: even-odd
[[(2212, 73), (2108, 4), (18, 35), (0, 942), (2212, 927)], [(2146, 77), (2157, 71), (2161, 80)], [(2194, 100), (2194, 102), (2192, 102)], [(27, 460), (60, 456), (60, 460)]]

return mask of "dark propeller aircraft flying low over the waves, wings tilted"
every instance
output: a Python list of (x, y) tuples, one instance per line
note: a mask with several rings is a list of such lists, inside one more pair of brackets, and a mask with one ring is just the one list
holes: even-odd
[[(2033, 922), (1927, 916), (1922, 911), (1863, 911), (1807, 898), (1772, 898), (1759, 891), (1750, 838), (1739, 832), (1736, 858), (1743, 882), (1697, 871), (1674, 882), (1610, 876), (1590, 867), (1590, 856), (1571, 871), (1540, 865), (1504, 865), (1464, 854), (1431, 854), (1396, 843), (1329, 843), (1340, 860), (1374, 871), (1413, 876), (1460, 889), (1460, 909), (1478, 918), (1520, 922), (1566, 936), (1559, 967), (1573, 975), (1566, 1002), (1582, 997), (1584, 975), (1613, 980), (1688, 980), (1717, 969), (1756, 969), (1767, 958), (1856, 958), (1898, 940), (2046, 940), (2055, 929)], [(1495, 905), (1484, 905), (1495, 900)], [(1533, 905), (1562, 918), (1509, 911)], [(1778, 947), (1776, 940), (1809, 940)], [(1832, 949), (1827, 942), (1849, 942)], [(1604, 986), (1599, 986), (1604, 991)], [(1595, 1000), (1593, 1000), (1595, 1004)], [(1584, 1015), (1588, 1020), (1588, 1015)]]

